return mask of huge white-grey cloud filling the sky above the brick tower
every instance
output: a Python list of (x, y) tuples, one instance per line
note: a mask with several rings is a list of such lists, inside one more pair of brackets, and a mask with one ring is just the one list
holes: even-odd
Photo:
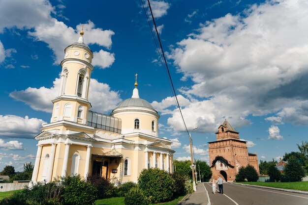
[[(208, 21), (171, 47), (169, 59), (194, 83), (180, 89), (191, 102), (182, 110), (188, 126), (213, 132), (227, 118), (241, 128), (248, 115), (268, 114), (276, 124), (307, 125), (307, 10), (304, 0), (266, 1)], [(171, 128), (185, 130), (177, 110), (163, 111)]]

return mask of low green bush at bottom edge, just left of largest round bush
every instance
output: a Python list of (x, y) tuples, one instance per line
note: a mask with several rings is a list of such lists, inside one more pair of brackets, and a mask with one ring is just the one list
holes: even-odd
[(125, 205), (149, 205), (150, 200), (144, 196), (138, 187), (131, 188), (125, 195)]

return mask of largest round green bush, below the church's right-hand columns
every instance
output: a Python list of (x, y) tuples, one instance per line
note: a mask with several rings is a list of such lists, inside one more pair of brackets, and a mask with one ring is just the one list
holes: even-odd
[(144, 169), (138, 178), (139, 188), (152, 203), (165, 202), (172, 198), (175, 184), (171, 175), (158, 168)]

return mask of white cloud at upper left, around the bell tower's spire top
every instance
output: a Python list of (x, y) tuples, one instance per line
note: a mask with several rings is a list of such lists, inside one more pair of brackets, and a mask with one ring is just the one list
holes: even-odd
[[(0, 3), (0, 22), (3, 24), (0, 25), (0, 32), (3, 32), (4, 28), (25, 30), (34, 28), (34, 31), (28, 32), (29, 35), (36, 41), (47, 43), (48, 47), (54, 52), (55, 64), (58, 64), (63, 59), (64, 48), (78, 40), (81, 24), (74, 29), (52, 18), (51, 14), (57, 14), (57, 12), (48, 0), (28, 0), (27, 4), (22, 0), (2, 0)], [(111, 37), (115, 34), (112, 30), (95, 28), (95, 25), (89, 20), (84, 25), (84, 31), (86, 44), (97, 44), (107, 49), (111, 48)], [(109, 67), (114, 62), (113, 53), (102, 50), (94, 53), (98, 57), (94, 60), (96, 61), (95, 65), (99, 68)], [(1, 58), (3, 58), (3, 55), (1, 55), (0, 45), (0, 60)]]

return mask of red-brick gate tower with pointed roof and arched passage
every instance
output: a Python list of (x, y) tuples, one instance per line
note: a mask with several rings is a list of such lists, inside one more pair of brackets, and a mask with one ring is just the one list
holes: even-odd
[(259, 172), (257, 154), (248, 153), (246, 141), (240, 140), (237, 132), (227, 120), (219, 126), (216, 141), (209, 142), (212, 176), (222, 176), (225, 181), (234, 181), (240, 167), (252, 165)]

